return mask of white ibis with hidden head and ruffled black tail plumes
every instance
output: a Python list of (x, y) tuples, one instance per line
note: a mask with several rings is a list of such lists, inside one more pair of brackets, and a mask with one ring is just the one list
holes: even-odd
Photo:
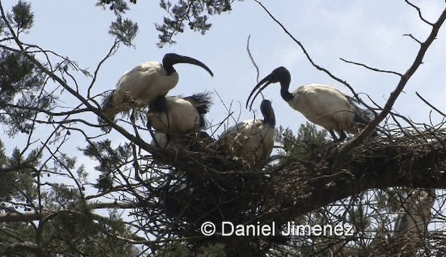
[(190, 97), (158, 96), (147, 113), (147, 126), (169, 134), (198, 132), (206, 126), (204, 115), (211, 104), (208, 92)]

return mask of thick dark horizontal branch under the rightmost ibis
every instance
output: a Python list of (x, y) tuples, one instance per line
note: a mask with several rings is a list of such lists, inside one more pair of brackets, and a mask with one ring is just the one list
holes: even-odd
[(311, 162), (295, 160), (281, 167), (284, 173), (269, 182), (276, 187), (270, 204), (277, 211), (260, 218), (286, 221), (374, 188), (445, 189), (445, 142), (443, 134), (436, 131), (397, 138), (394, 142), (362, 144), (345, 156), (341, 172), (330, 169), (330, 163), (337, 158), (332, 152), (335, 149), (321, 151), (317, 154), (319, 159)]

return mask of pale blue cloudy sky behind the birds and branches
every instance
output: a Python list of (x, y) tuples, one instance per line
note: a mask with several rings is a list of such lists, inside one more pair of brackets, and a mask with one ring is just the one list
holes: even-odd
[[(114, 38), (107, 33), (114, 15), (109, 10), (96, 7), (94, 2), (32, 1), (34, 27), (22, 40), (56, 51), (61, 56), (68, 56), (79, 67), (93, 72), (114, 42)], [(253, 113), (249, 113), (244, 107), (249, 92), (256, 85), (256, 71), (246, 51), (248, 35), (251, 35), (251, 50), (259, 65), (260, 78), (270, 74), (276, 67), (284, 66), (291, 72), (290, 90), (309, 83), (323, 83), (351, 94), (344, 85), (312, 67), (298, 45), (252, 0), (234, 3), (229, 14), (210, 17), (213, 26), (206, 35), (185, 30), (185, 33), (176, 36), (176, 44), (162, 49), (155, 45), (157, 31), (154, 23), (162, 22), (165, 13), (157, 2), (138, 1), (136, 6), (132, 6), (127, 17), (139, 24), (135, 47), (121, 47), (107, 60), (93, 88), (95, 94), (114, 89), (121, 75), (139, 63), (149, 60), (160, 62), (165, 53), (173, 52), (201, 60), (213, 70), (215, 76), (210, 77), (203, 69), (193, 65), (176, 65), (180, 82), (169, 94), (187, 96), (206, 90), (217, 92), (221, 101), (214, 93), (214, 104), (207, 116), (211, 124), (217, 124), (226, 117), (223, 103), (226, 106), (232, 103), (232, 110), (236, 116), (240, 115), (240, 120), (252, 119)], [(13, 3), (8, 1), (3, 4)], [(417, 42), (403, 34), (410, 33), (424, 41), (430, 32), (430, 27), (420, 20), (416, 10), (403, 0), (282, 0), (262, 3), (304, 44), (318, 65), (348, 81), (356, 92), (369, 94), (381, 106), (397, 86), (397, 76), (371, 72), (344, 63), (339, 58), (403, 73), (413, 62), (419, 49)], [(440, 0), (419, 0), (413, 3), (420, 6), (424, 17), (431, 22), (438, 18), (445, 6), (445, 1)], [(8, 6), (4, 8), (9, 9)], [(394, 106), (394, 110), (401, 115), (410, 117), (415, 122), (429, 122), (431, 108), (422, 103), (415, 92), (446, 112), (445, 45), (446, 31), (442, 28), (427, 52), (424, 64), (406, 85)], [(81, 74), (77, 74), (76, 78), (80, 90), (86, 92), (90, 78)], [(281, 99), (278, 84), (268, 87), (264, 94), (272, 100), (277, 125), (297, 131), (300, 124), (306, 121), (305, 117)], [(254, 103), (257, 110), (259, 99)], [(367, 97), (362, 99), (370, 103)], [(77, 103), (70, 97), (64, 101), (72, 106)], [(91, 118), (95, 120), (93, 116)], [(439, 122), (440, 116), (433, 115), (433, 119)], [(229, 125), (231, 124), (233, 122)], [(216, 135), (220, 132), (222, 131), (217, 131)], [(111, 136), (116, 144), (125, 141), (117, 133), (112, 133)], [(12, 149), (17, 144), (17, 139), (2, 140), (7, 149)], [(73, 146), (84, 145), (82, 135), (73, 133), (72, 144), (67, 147), (73, 156), (78, 156), (81, 163), (91, 164), (80, 151), (73, 149)]]

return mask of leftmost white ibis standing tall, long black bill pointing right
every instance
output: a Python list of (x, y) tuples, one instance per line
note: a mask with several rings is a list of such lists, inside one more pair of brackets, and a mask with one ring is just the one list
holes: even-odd
[(199, 60), (176, 53), (167, 53), (162, 64), (157, 62), (141, 63), (119, 79), (116, 90), (105, 98), (102, 111), (109, 117), (139, 106), (148, 106), (158, 96), (164, 96), (178, 83), (178, 73), (174, 69), (176, 63), (198, 65), (213, 76), (213, 72)]

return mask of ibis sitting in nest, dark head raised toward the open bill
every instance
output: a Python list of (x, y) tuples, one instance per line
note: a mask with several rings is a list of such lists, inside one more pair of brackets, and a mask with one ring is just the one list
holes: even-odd
[(231, 126), (218, 140), (230, 154), (243, 158), (249, 165), (266, 163), (274, 147), (276, 121), (271, 102), (263, 100), (260, 110), (263, 119), (249, 119)]

